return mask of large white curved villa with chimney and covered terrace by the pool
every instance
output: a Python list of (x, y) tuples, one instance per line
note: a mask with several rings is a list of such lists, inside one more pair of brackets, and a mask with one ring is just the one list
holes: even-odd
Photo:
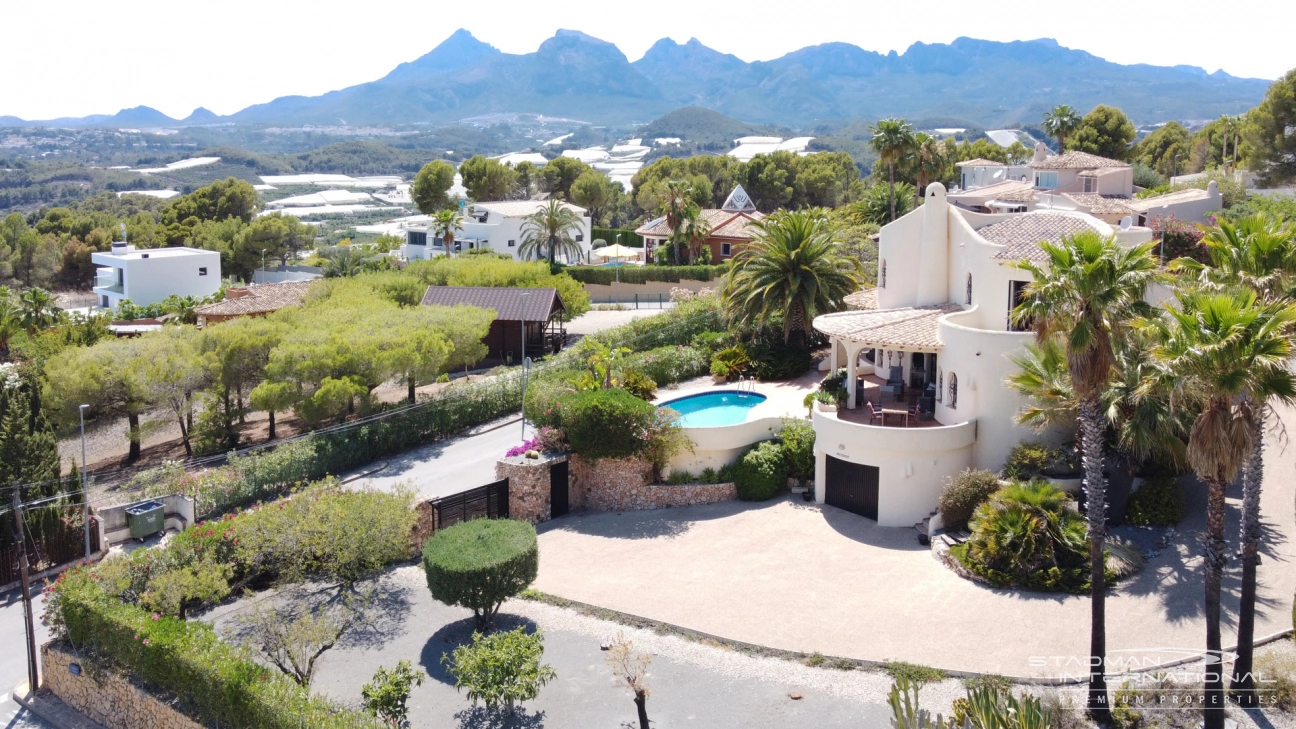
[[(884, 527), (921, 521), (946, 479), (998, 470), (1020, 441), (1036, 438), (1013, 416), (1024, 405), (1003, 381), (1033, 335), (1010, 311), (1041, 261), (1041, 240), (1094, 230), (1138, 244), (1152, 231), (1122, 228), (1081, 211), (977, 213), (953, 205), (940, 183), (912, 213), (883, 227), (877, 288), (858, 310), (824, 314), (814, 327), (846, 368), (845, 410), (816, 403), (815, 501)], [(919, 389), (918, 406), (903, 393)]]

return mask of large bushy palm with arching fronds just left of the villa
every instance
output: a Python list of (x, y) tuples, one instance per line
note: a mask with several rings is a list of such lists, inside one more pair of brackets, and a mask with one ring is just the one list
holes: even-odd
[(771, 213), (752, 224), (752, 244), (734, 258), (721, 284), (724, 317), (765, 328), (783, 318), (783, 341), (798, 340), (815, 314), (841, 311), (859, 289), (863, 267), (833, 240), (828, 214), (819, 208)]

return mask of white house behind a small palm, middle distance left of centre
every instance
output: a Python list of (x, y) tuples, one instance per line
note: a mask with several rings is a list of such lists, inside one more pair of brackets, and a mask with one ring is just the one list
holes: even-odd
[[(463, 208), (464, 222), (459, 231), (455, 231), (455, 248), (457, 253), (469, 250), (492, 250), (520, 258), (518, 248), (522, 245), (525, 235), (526, 217), (548, 205), (543, 200), (507, 200), (500, 202), (473, 202)], [(581, 215), (581, 230), (575, 233), (575, 241), (581, 246), (582, 257), (590, 254), (590, 215), (584, 208), (564, 202), (564, 208)], [(426, 217), (411, 219), (404, 226), (406, 244), (402, 253), (406, 261), (425, 261), (434, 256), (445, 256), (446, 249), (441, 239), (437, 237), (435, 228), (432, 227)], [(561, 258), (561, 256), (560, 256)]]

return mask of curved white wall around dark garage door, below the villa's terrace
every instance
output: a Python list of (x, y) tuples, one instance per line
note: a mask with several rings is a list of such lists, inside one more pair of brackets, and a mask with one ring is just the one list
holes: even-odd
[(977, 423), (936, 428), (863, 425), (815, 405), (815, 501), (824, 502), (827, 458), (877, 467), (877, 525), (911, 527), (936, 508), (950, 476), (972, 464)]

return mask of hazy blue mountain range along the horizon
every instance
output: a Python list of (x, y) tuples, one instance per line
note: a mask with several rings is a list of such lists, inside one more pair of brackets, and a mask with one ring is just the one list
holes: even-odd
[(1080, 110), (1108, 104), (1137, 123), (1156, 123), (1242, 113), (1267, 86), (1196, 66), (1113, 64), (1051, 39), (959, 38), (886, 54), (826, 43), (756, 62), (696, 39), (662, 39), (631, 62), (612, 43), (573, 30), (557, 31), (534, 53), (504, 53), (459, 30), (381, 79), (321, 96), (284, 96), (228, 117), (197, 109), (172, 119), (136, 106), (48, 122), (0, 117), (0, 126), (400, 125), (504, 112), (631, 125), (679, 106), (791, 127), (889, 115), (1001, 126), (1037, 123), (1056, 104)]

